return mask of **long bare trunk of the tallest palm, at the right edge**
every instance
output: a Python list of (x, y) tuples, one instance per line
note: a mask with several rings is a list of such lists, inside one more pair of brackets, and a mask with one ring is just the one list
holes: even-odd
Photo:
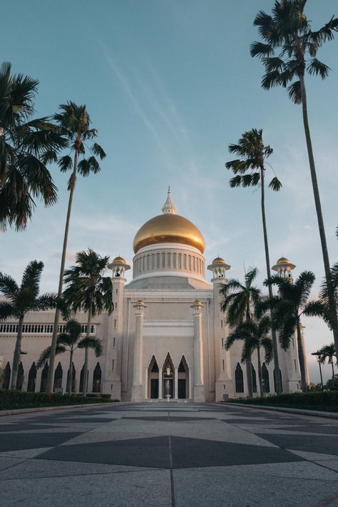
[(327, 293), (328, 293), (328, 299), (329, 299), (330, 319), (332, 319), (332, 332), (333, 332), (333, 338), (334, 338), (334, 346), (336, 347), (336, 350), (338, 350), (337, 307), (336, 307), (336, 302), (334, 299), (334, 287), (332, 286), (331, 270), (330, 270), (330, 264), (329, 264), (329, 252), (327, 250), (327, 239), (325, 236), (324, 220), (323, 220), (323, 215), (322, 215), (322, 205), (320, 203), (317, 173), (316, 173), (316, 168), (314, 165), (312, 141), (311, 141), (311, 134), (310, 134), (310, 130), (309, 130), (309, 120), (307, 117), (307, 92), (305, 89), (304, 76), (300, 76), (299, 79), (300, 79), (300, 88), (301, 88), (301, 93), (302, 93), (302, 113), (303, 113), (304, 132), (305, 132), (305, 138), (307, 141), (307, 155), (309, 157), (309, 168), (310, 168), (311, 180), (312, 180), (314, 204), (315, 204), (316, 212), (317, 212), (319, 236), (320, 236), (320, 242), (322, 245), (322, 256), (323, 256), (323, 261), (324, 261), (325, 278), (326, 278), (326, 282), (327, 282)]

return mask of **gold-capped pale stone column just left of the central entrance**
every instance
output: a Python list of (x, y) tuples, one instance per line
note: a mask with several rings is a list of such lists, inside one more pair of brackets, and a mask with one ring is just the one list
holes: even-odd
[(131, 390), (131, 401), (142, 401), (143, 394), (143, 317), (145, 302), (139, 299), (135, 308), (135, 341), (134, 341), (134, 367), (133, 387)]

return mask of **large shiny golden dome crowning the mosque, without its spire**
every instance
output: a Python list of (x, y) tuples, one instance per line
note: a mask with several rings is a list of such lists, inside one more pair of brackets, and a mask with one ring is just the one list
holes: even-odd
[(180, 215), (164, 213), (148, 220), (140, 227), (133, 242), (134, 252), (148, 245), (157, 243), (181, 243), (200, 250), (205, 250), (205, 242), (198, 228)]

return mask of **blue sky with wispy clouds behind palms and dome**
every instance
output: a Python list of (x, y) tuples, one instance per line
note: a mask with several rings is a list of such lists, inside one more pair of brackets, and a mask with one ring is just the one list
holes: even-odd
[[(39, 79), (35, 116), (51, 115), (68, 100), (86, 104), (107, 153), (101, 173), (76, 183), (67, 265), (88, 247), (131, 263), (133, 237), (160, 214), (170, 185), (178, 213), (203, 232), (207, 264), (221, 255), (235, 278), (255, 266), (261, 284), (260, 189), (230, 188), (224, 164), (232, 158), (230, 143), (262, 128), (283, 185), (280, 193), (267, 191), (270, 259), (288, 257), (297, 265), (295, 277), (312, 270), (316, 297), (324, 270), (302, 111), (284, 89), (262, 90), (262, 63), (249, 53), (250, 43), (260, 40), (253, 19), (272, 6), (272, 0), (14, 0), (1, 6), (1, 61)], [(337, 0), (307, 2), (313, 29), (337, 11)], [(329, 78), (307, 78), (332, 263), (338, 259), (337, 45), (338, 36), (318, 53), (332, 68)], [(50, 170), (58, 203), (37, 203), (24, 232), (0, 235), (0, 271), (19, 281), (30, 260), (42, 260), (42, 292), (57, 290), (68, 203), (68, 175), (55, 165)], [(267, 178), (273, 175), (269, 169)], [(310, 376), (319, 381), (310, 353), (332, 342), (332, 334), (319, 319), (303, 323)], [(330, 370), (324, 367), (324, 379)]]

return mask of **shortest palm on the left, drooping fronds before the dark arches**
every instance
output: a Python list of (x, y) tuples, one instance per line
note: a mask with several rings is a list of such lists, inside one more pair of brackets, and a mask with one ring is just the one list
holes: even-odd
[[(73, 353), (76, 349), (93, 349), (96, 357), (100, 357), (103, 352), (101, 339), (96, 337), (85, 337), (81, 339), (82, 326), (75, 319), (67, 322), (67, 332), (58, 334), (56, 342), (56, 354), (69, 352), (69, 369), (67, 378), (67, 392), (71, 394), (73, 383)], [(68, 348), (67, 348), (68, 347)], [(43, 368), (51, 357), (51, 347), (44, 349), (36, 362), (36, 367)]]

